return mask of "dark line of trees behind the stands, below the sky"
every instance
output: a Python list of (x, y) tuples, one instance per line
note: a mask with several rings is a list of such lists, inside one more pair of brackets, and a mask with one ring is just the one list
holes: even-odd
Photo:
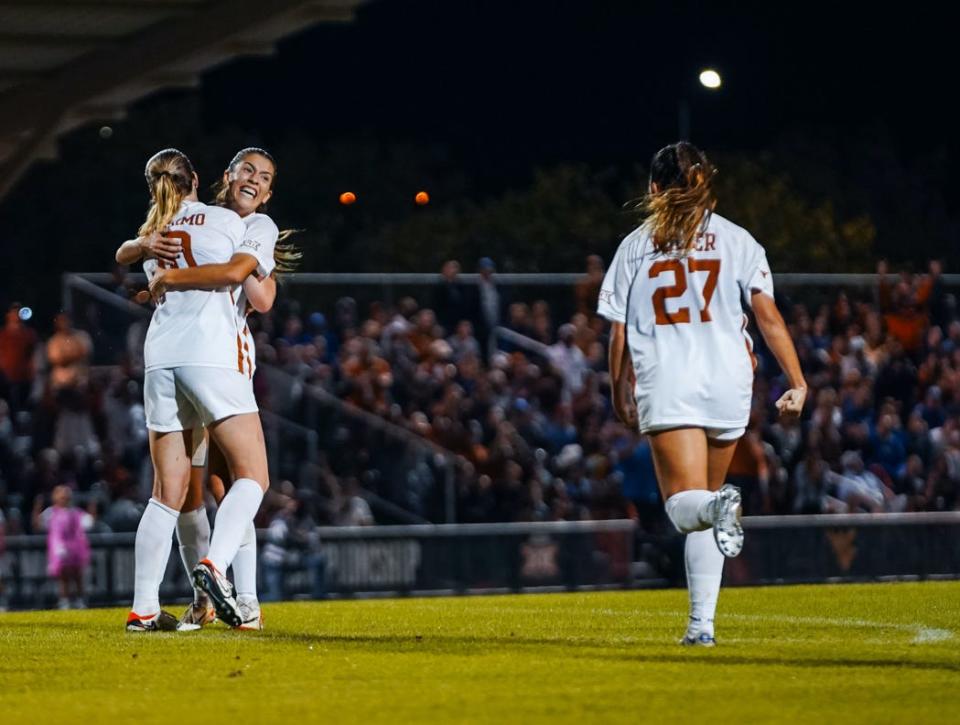
[[(0, 205), (8, 265), (0, 302), (20, 298), (49, 312), (61, 272), (109, 269), (147, 206), (143, 164), (165, 145), (191, 156), (204, 192), (237, 149), (266, 145), (280, 163), (268, 211), (281, 228), (305, 230), (297, 239), (306, 271), (436, 271), (449, 258), (469, 270), (481, 256), (502, 271), (579, 271), (587, 254), (610, 259), (638, 223), (632, 207), (646, 186), (646, 160), (624, 159), (558, 163), (503, 188), (470, 178), (438, 145), (206, 128), (189, 95), (131, 116), (109, 140), (96, 129), (69, 137), (60, 161), (35, 167)], [(872, 271), (878, 257), (905, 267), (940, 257), (956, 269), (945, 158), (907, 166), (882, 129), (852, 145), (800, 130), (763, 153), (711, 156), (718, 212), (749, 229), (775, 269)], [(420, 190), (431, 196), (423, 207), (413, 203)], [(357, 202), (340, 205), (343, 191)]]

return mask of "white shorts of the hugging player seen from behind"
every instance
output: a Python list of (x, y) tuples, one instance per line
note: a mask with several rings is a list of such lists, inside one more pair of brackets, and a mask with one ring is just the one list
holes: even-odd
[(250, 378), (237, 370), (184, 366), (147, 370), (147, 428), (158, 433), (206, 427), (232, 415), (256, 413)]

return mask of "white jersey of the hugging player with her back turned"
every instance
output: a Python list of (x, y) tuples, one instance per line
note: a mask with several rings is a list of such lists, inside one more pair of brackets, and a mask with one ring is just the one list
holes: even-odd
[[(195, 267), (223, 264), (235, 253), (247, 252), (241, 247), (244, 231), (240, 217), (229, 209), (185, 201), (166, 234), (183, 244), (177, 266)], [(189, 365), (242, 370), (235, 304), (234, 290), (229, 288), (167, 292), (147, 330), (145, 369)]]

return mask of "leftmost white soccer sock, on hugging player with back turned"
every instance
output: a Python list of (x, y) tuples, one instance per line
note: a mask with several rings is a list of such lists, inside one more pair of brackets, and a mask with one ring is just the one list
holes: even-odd
[(154, 498), (140, 517), (134, 544), (133, 611), (151, 616), (160, 611), (160, 582), (170, 558), (179, 514)]

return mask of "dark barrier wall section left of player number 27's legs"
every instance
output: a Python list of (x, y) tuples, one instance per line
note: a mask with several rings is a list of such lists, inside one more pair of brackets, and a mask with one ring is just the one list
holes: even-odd
[[(288, 551), (279, 564), (261, 558), (261, 595), (629, 586), (634, 536), (632, 521), (320, 528), (312, 549)], [(133, 596), (133, 535), (95, 535), (90, 543), (88, 601), (128, 604)], [(43, 536), (10, 537), (5, 559), (12, 607), (53, 604)], [(174, 546), (161, 599), (188, 596)]]

